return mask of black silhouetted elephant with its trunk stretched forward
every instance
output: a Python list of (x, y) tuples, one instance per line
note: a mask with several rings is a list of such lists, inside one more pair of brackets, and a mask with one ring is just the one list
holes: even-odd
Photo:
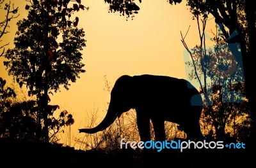
[(141, 141), (150, 141), (150, 120), (157, 141), (165, 141), (164, 122), (179, 125), (187, 139), (201, 139), (202, 97), (189, 81), (170, 76), (123, 75), (111, 90), (108, 112), (102, 122), (79, 132), (93, 134), (108, 128), (122, 113), (135, 109)]

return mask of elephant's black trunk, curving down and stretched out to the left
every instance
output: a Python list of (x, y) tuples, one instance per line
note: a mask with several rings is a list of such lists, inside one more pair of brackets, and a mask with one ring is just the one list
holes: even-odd
[(113, 105), (110, 103), (107, 115), (105, 116), (105, 118), (102, 120), (102, 122), (99, 125), (97, 125), (96, 127), (92, 128), (92, 129), (79, 129), (79, 133), (85, 132), (88, 134), (94, 134), (96, 132), (104, 130), (104, 129), (108, 128), (109, 125), (111, 125), (113, 122), (115, 122), (116, 117), (117, 117), (117, 111), (115, 110)]

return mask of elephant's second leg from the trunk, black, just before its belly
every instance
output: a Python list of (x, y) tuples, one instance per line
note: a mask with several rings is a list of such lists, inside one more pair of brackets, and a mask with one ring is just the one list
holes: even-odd
[(152, 119), (152, 124), (154, 127), (156, 141), (165, 141), (166, 134), (164, 129), (164, 120), (154, 118)]

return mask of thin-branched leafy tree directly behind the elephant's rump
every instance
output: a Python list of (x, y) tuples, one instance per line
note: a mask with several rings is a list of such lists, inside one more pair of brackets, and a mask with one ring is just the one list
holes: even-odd
[[(202, 17), (202, 19), (201, 19)], [(188, 51), (186, 66), (188, 78), (199, 81), (200, 92), (204, 95), (204, 117), (202, 125), (204, 134), (215, 139), (241, 141), (250, 135), (251, 113), (248, 101), (244, 97), (244, 74), (241, 62), (234, 59), (227, 42), (218, 25), (214, 34), (214, 46), (205, 45), (205, 25), (208, 15), (195, 15), (200, 34), (200, 45), (189, 49), (186, 36), (182, 35), (182, 43)], [(202, 29), (200, 29), (200, 20)]]

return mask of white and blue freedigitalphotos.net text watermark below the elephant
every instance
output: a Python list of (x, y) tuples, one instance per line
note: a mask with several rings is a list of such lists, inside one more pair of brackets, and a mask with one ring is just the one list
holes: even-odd
[(120, 141), (120, 148), (123, 149), (127, 149), (128, 147), (132, 148), (132, 149), (156, 149), (158, 152), (162, 151), (164, 149), (168, 149), (168, 150), (180, 150), (180, 152), (184, 151), (184, 150), (189, 150), (189, 149), (206, 149), (206, 150), (213, 150), (213, 149), (224, 149), (224, 148), (228, 148), (228, 149), (245, 149), (245, 144), (244, 143), (227, 143), (225, 144), (223, 141), (147, 141), (147, 142), (143, 142), (143, 141), (127, 141), (125, 142), (125, 138), (121, 139)]

